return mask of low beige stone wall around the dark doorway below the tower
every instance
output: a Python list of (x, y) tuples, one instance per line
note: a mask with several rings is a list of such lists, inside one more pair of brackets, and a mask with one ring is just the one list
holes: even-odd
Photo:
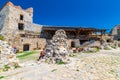
[(20, 51), (23, 51), (24, 45), (29, 45), (29, 50), (43, 49), (46, 46), (46, 39), (43, 38), (21, 38), (14, 46), (17, 47)]

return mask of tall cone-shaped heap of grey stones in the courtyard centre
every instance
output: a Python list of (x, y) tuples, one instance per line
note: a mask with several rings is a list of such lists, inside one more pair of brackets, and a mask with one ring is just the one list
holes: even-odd
[(56, 63), (59, 61), (67, 62), (68, 56), (67, 36), (64, 30), (56, 31), (51, 40), (51, 44), (47, 45), (45, 49), (46, 58), (50, 58)]

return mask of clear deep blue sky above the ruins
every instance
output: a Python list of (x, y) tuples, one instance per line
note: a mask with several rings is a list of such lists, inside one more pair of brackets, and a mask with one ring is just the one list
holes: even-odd
[[(8, 0), (0, 0), (2, 7)], [(111, 29), (120, 24), (120, 0), (9, 0), (34, 8), (34, 23)]]

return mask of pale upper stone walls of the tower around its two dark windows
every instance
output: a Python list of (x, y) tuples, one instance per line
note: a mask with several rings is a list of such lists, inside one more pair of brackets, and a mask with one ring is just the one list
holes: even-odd
[[(20, 15), (23, 15), (23, 20), (20, 20)], [(33, 24), (33, 8), (23, 10), (20, 6), (8, 2), (0, 11), (0, 16), (0, 32), (8, 42), (20, 34), (18, 23), (24, 24), (23, 31), (41, 32), (42, 26)]]

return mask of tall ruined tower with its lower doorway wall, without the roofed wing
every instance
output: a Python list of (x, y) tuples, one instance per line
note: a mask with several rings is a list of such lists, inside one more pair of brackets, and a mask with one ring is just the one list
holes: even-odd
[(41, 25), (33, 23), (33, 8), (23, 10), (8, 2), (0, 10), (0, 33), (19, 50), (43, 48), (46, 41), (40, 38), (41, 28)]

